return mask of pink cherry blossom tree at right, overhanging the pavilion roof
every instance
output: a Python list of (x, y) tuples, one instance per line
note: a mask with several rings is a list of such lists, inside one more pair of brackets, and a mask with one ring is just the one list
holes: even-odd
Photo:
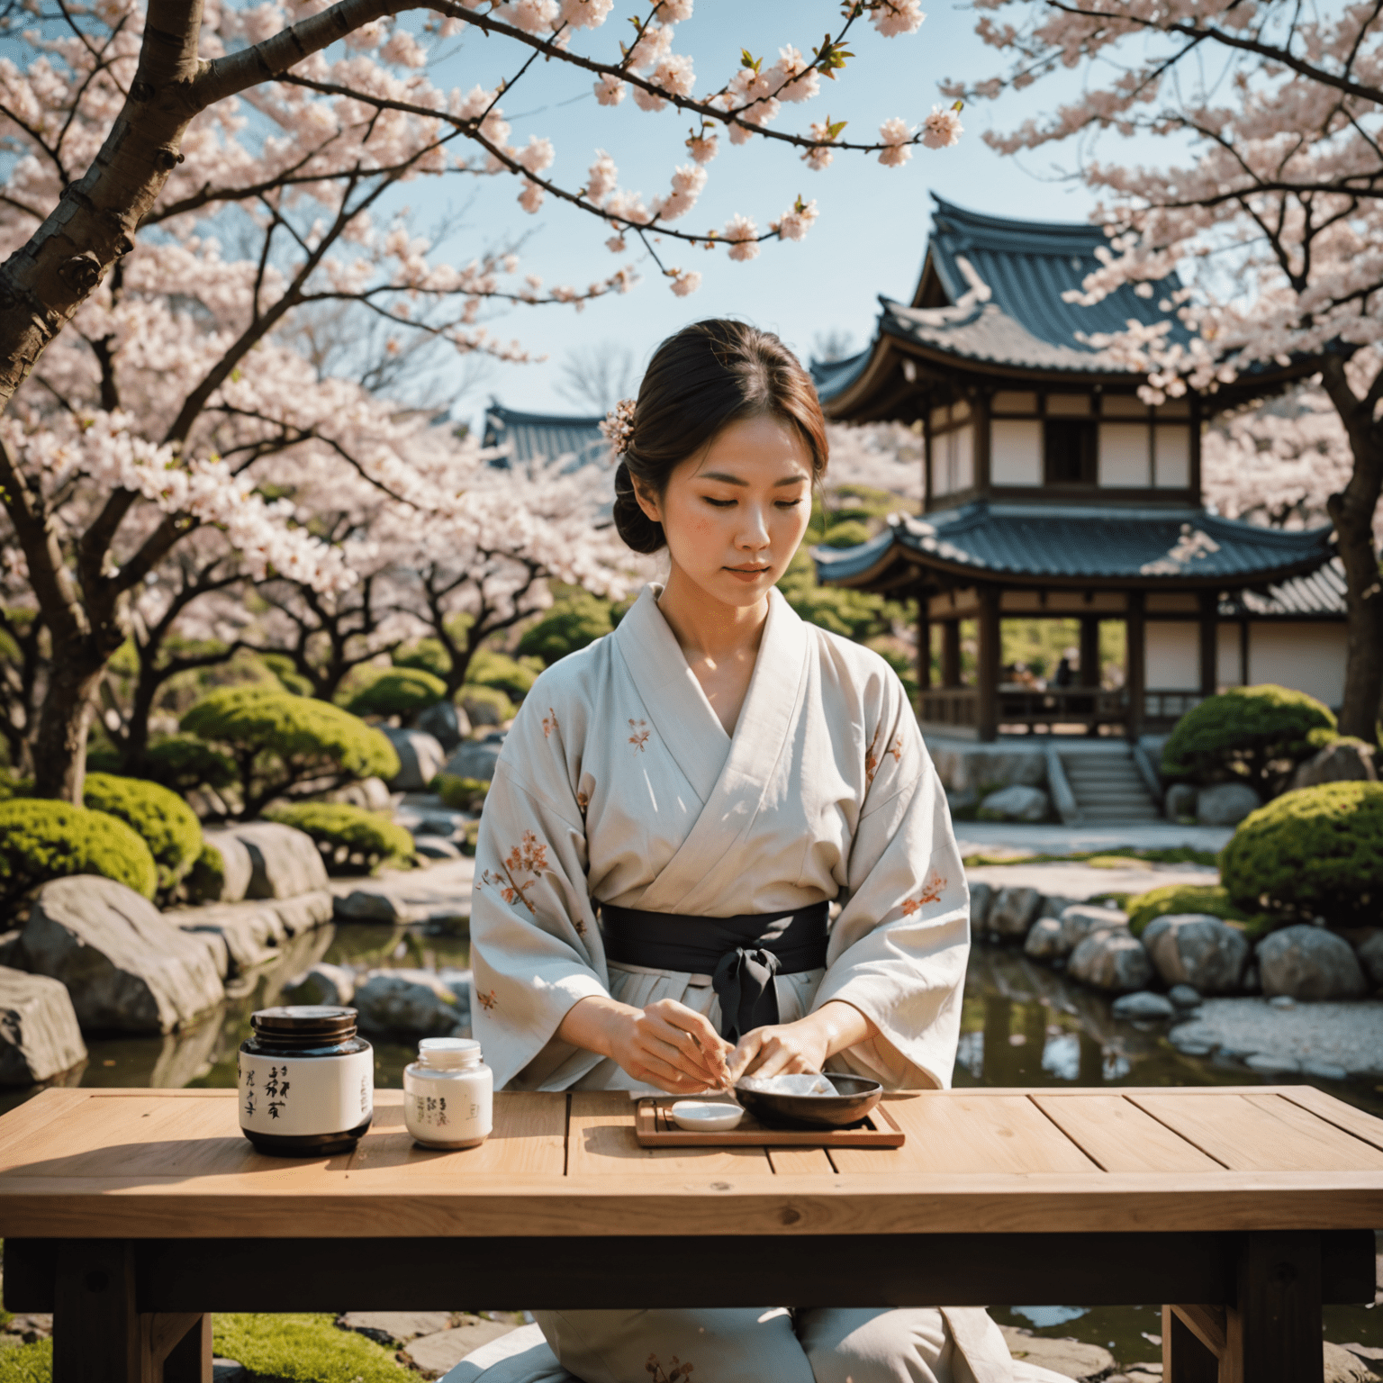
[[(1010, 154), (1070, 141), (1109, 235), (1076, 299), (1134, 284), (1166, 314), (1091, 342), (1147, 371), (1152, 400), (1319, 376), (1350, 455), (1324, 496), (1348, 585), (1340, 727), (1372, 739), (1383, 694), (1373, 532), (1383, 490), (1383, 6), (971, 3), (981, 37), (1011, 65), (947, 94), (994, 98), (1082, 69), (1066, 104), (986, 138)], [(1156, 137), (1166, 166), (1099, 158), (1111, 134)], [(1185, 286), (1159, 288), (1173, 270)], [(1189, 336), (1173, 331), (1178, 321)]]

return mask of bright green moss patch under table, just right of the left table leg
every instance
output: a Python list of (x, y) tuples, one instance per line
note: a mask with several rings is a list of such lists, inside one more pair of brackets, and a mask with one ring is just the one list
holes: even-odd
[(416, 1379), (393, 1351), (354, 1330), (339, 1330), (329, 1315), (214, 1315), (212, 1340), (221, 1358), (235, 1359), (260, 1377), (289, 1383)]

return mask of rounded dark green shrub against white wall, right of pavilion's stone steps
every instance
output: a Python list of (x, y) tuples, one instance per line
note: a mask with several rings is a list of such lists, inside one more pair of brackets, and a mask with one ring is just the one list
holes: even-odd
[(1271, 797), (1277, 766), (1310, 758), (1336, 737), (1329, 707), (1267, 683), (1206, 697), (1176, 725), (1162, 751), (1164, 777), (1196, 783), (1243, 779)]

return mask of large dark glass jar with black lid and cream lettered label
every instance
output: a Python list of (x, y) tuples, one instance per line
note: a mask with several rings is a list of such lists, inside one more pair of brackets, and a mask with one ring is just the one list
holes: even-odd
[(355, 1010), (261, 1008), (236, 1058), (241, 1131), (277, 1158), (351, 1152), (375, 1115), (375, 1054)]

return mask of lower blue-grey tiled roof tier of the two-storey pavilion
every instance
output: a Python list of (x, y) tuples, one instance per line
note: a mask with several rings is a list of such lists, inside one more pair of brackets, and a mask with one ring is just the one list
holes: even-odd
[[(1261, 585), (1314, 571), (1330, 559), (1330, 530), (1285, 532), (1205, 509), (1061, 508), (985, 501), (925, 517), (893, 514), (857, 548), (817, 548), (827, 584), (874, 585), (899, 563), (961, 577), (1047, 581), (1119, 579), (1133, 586)], [(863, 578), (863, 579), (862, 579)]]

